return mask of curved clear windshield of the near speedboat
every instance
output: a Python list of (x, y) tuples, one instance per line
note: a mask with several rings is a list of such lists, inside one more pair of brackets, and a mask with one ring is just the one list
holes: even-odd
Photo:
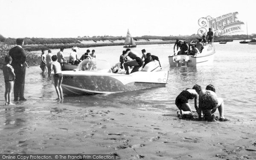
[(105, 60), (84, 59), (76, 68), (77, 70), (91, 70), (97, 72), (111, 72), (110, 65)]

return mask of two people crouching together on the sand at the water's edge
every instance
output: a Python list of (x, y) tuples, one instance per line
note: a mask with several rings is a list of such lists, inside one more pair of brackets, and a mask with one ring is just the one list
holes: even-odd
[[(195, 99), (195, 110), (193, 111), (189, 105), (188, 100)], [(203, 90), (200, 85), (195, 84), (192, 89), (187, 88), (183, 90), (176, 98), (175, 105), (180, 111), (177, 111), (179, 118), (192, 118), (194, 113), (198, 113), (198, 119), (206, 121), (227, 121), (224, 117), (224, 101), (222, 98), (217, 97), (215, 87), (212, 84), (207, 85)], [(220, 117), (213, 115), (215, 111), (219, 111)], [(201, 117), (203, 113), (204, 117)]]

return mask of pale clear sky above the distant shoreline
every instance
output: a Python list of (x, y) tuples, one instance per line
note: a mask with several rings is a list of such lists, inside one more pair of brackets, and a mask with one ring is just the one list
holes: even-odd
[[(192, 35), (201, 17), (239, 12), (256, 33), (255, 0), (0, 0), (0, 34), (10, 38)], [(242, 26), (246, 34), (246, 25)]]

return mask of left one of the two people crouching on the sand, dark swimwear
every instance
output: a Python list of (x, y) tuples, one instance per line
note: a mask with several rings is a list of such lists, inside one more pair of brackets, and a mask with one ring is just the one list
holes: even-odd
[(195, 98), (195, 110), (198, 111), (198, 99), (201, 92), (201, 86), (195, 84), (192, 89), (183, 90), (176, 98), (175, 105), (180, 111), (177, 111), (179, 118), (191, 118), (193, 116), (192, 108), (189, 105), (188, 100)]

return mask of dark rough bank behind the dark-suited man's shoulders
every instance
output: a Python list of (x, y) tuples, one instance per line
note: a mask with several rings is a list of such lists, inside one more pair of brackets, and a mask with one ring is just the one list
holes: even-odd
[[(12, 47), (15, 47), (15, 45), (0, 43), (0, 69), (3, 67), (4, 57), (9, 54), (9, 50)], [(41, 63), (41, 58), (38, 55), (26, 51), (26, 62), (29, 66), (39, 65)]]

